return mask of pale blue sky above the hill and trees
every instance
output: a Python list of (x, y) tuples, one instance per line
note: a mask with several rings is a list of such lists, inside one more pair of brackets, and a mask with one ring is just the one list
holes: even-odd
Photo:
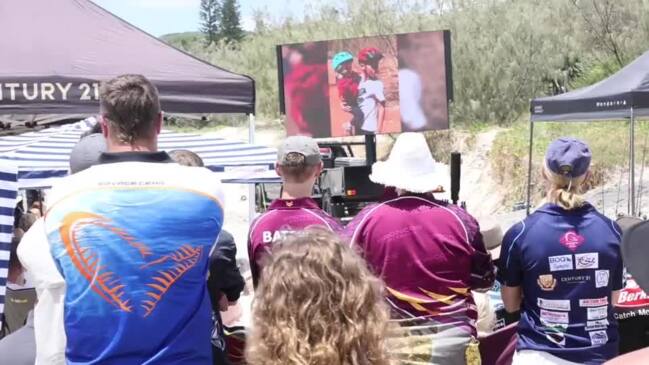
[[(200, 0), (92, 1), (154, 36), (196, 31), (200, 26)], [(241, 23), (246, 30), (254, 30), (255, 10), (264, 10), (273, 18), (301, 17), (304, 12), (304, 4), (299, 0), (239, 0), (239, 6)]]

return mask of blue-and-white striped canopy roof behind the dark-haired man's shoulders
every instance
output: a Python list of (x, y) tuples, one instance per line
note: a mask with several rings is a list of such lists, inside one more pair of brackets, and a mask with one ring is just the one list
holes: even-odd
[[(18, 167), (19, 188), (45, 188), (52, 179), (66, 176), (70, 151), (83, 132), (94, 124), (92, 118), (58, 128), (0, 137), (0, 162)], [(277, 151), (260, 145), (164, 130), (158, 140), (164, 151), (186, 149), (197, 153), (212, 171), (272, 169)]]

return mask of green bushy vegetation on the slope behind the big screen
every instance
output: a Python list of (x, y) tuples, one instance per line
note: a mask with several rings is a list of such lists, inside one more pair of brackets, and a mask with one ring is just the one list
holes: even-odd
[(300, 22), (256, 15), (238, 44), (205, 46), (200, 35), (166, 40), (252, 76), (260, 117), (278, 118), (275, 45), (449, 29), (455, 126), (509, 125), (529, 99), (598, 81), (649, 46), (644, 0), (346, 0), (312, 2)]

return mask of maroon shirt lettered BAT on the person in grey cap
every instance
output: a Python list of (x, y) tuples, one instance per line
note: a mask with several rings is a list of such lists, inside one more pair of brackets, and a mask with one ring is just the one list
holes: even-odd
[(276, 199), (268, 211), (255, 219), (248, 236), (248, 258), (255, 286), (273, 242), (309, 226), (323, 226), (333, 232), (342, 230), (340, 223), (311, 198)]

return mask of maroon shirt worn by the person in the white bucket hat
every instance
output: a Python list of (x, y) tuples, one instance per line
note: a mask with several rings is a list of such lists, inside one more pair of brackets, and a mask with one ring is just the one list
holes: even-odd
[(475, 335), (471, 290), (490, 288), (495, 274), (478, 222), (466, 211), (401, 196), (365, 208), (345, 235), (385, 282), (395, 319), (452, 324)]

